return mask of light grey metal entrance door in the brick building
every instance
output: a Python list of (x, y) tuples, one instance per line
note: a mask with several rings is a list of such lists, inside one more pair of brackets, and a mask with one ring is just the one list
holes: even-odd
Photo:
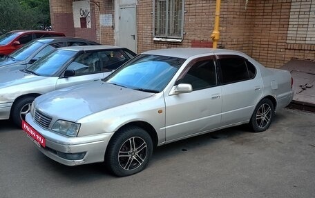
[(135, 7), (120, 8), (118, 46), (137, 53), (137, 32), (135, 25)]

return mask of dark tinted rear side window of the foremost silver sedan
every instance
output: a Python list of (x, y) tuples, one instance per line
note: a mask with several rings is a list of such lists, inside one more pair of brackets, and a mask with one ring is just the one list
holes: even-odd
[(218, 63), (222, 84), (245, 81), (254, 78), (256, 75), (255, 66), (242, 57), (220, 57)]

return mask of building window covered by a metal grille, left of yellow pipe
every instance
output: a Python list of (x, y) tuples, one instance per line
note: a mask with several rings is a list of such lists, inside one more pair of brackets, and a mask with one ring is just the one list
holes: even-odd
[(182, 39), (184, 0), (155, 0), (153, 14), (156, 39)]

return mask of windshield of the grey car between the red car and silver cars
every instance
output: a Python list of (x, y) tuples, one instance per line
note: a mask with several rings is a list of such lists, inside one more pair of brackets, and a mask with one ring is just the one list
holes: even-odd
[(41, 46), (44, 46), (45, 43), (41, 43), (39, 41), (33, 41), (31, 43), (27, 43), (25, 46), (19, 48), (9, 56), (14, 58), (17, 61), (23, 61), (30, 57), (32, 53), (34, 53), (36, 50), (41, 48)]

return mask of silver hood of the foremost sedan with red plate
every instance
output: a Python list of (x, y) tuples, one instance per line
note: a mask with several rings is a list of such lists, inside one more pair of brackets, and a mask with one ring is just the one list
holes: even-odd
[(138, 101), (151, 95), (154, 93), (123, 88), (99, 80), (37, 97), (36, 108), (57, 119), (77, 121), (95, 112)]

